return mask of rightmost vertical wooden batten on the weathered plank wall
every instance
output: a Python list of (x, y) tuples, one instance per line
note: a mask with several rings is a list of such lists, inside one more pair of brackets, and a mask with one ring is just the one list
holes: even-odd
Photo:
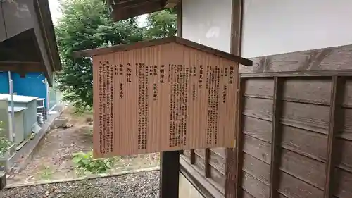
[(338, 122), (341, 122), (341, 104), (344, 98), (344, 82), (342, 77), (332, 77), (332, 91), (330, 101), (330, 120), (329, 120), (329, 134), (327, 147), (327, 166), (325, 178), (324, 198), (332, 198), (333, 183), (334, 183), (334, 168), (337, 164), (337, 153), (335, 144)]

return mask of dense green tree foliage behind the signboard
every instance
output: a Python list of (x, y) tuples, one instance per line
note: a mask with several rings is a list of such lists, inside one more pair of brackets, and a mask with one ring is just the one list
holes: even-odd
[(79, 109), (92, 108), (92, 59), (73, 58), (73, 51), (175, 35), (177, 30), (175, 10), (151, 13), (142, 28), (137, 18), (113, 22), (101, 0), (62, 0), (61, 12), (56, 37), (63, 70), (55, 79), (63, 99)]

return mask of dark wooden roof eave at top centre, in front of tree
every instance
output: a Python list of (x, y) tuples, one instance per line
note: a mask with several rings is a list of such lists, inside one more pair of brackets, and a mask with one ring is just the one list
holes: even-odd
[(173, 8), (178, 0), (108, 0), (113, 20), (124, 20), (146, 13)]

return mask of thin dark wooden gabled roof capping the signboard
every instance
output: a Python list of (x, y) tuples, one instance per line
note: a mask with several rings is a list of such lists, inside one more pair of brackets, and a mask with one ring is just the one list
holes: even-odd
[(182, 44), (184, 46), (191, 47), (191, 48), (197, 49), (199, 51), (204, 51), (206, 53), (213, 54), (215, 56), (220, 56), (222, 58), (226, 58), (230, 61), (240, 63), (241, 65), (244, 65), (244, 66), (252, 66), (253, 65), (253, 62), (249, 59), (242, 58), (240, 56), (235, 56), (235, 55), (229, 54), (225, 51), (213, 49), (213, 48), (207, 47), (203, 44), (191, 42), (187, 39), (183, 39), (181, 37), (176, 37), (176, 36), (166, 37), (163, 39), (153, 39), (153, 40), (143, 41), (143, 42), (134, 42), (132, 44), (121, 44), (121, 45), (115, 45), (115, 46), (111, 46), (111, 47), (102, 47), (102, 48), (96, 48), (96, 49), (86, 49), (86, 50), (82, 50), (82, 51), (75, 51), (73, 55), (76, 58), (97, 56), (97, 55), (101, 55), (101, 54), (110, 54), (110, 53), (118, 52), (118, 51), (127, 51), (127, 50), (131, 50), (131, 49), (152, 47), (152, 46), (161, 45), (161, 44), (168, 44), (168, 43)]

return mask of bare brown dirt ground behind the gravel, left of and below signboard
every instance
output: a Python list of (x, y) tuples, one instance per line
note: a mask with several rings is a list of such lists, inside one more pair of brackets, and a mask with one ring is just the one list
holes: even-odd
[[(73, 154), (92, 151), (92, 112), (74, 113), (68, 107), (61, 117), (68, 118), (70, 128), (53, 129), (39, 145), (32, 161), (20, 173), (8, 175), (9, 184), (23, 184), (40, 180), (61, 180), (82, 176), (75, 171)], [(111, 173), (159, 165), (158, 154), (144, 154), (119, 157), (110, 170)]]

